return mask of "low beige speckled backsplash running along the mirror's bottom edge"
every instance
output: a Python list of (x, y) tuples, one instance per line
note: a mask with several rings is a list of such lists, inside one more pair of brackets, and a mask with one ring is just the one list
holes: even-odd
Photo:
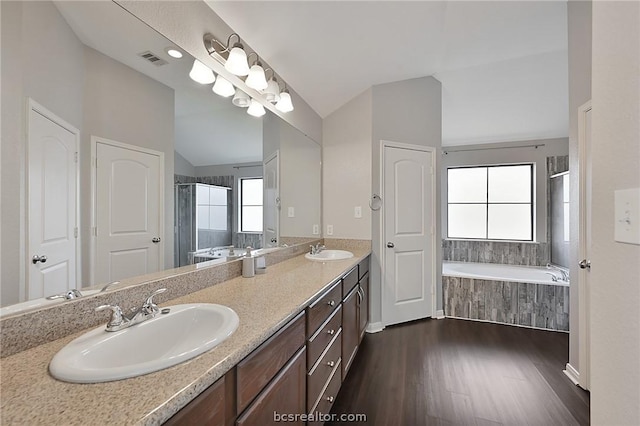
[[(316, 244), (321, 240), (313, 240)], [(307, 244), (287, 247), (265, 255), (267, 266), (306, 253)], [(268, 270), (267, 270), (268, 274)], [(169, 269), (142, 277), (121, 280), (113, 290), (54, 304), (43, 309), (0, 318), (0, 358), (16, 354), (46, 342), (60, 339), (106, 323), (108, 312), (94, 312), (97, 306), (116, 304), (123, 310), (138, 307), (153, 291), (167, 288), (155, 297), (157, 303), (220, 284), (242, 275), (241, 260), (221, 262), (204, 267), (202, 264)]]

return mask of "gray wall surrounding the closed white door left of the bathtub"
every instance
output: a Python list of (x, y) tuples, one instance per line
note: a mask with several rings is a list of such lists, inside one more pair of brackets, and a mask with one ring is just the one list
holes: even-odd
[[(436, 194), (440, 199), (440, 159), (442, 144), (442, 85), (433, 77), (422, 77), (372, 88), (372, 185), (373, 193), (380, 194), (381, 141), (401, 142), (436, 148)], [(369, 196), (371, 194), (368, 194)], [(436, 232), (441, 234), (440, 212), (436, 212)], [(372, 213), (371, 256), (371, 311), (372, 323), (382, 321), (381, 261), (382, 227), (380, 211)], [(442, 249), (436, 244), (436, 300), (437, 310), (442, 309)], [(434, 312), (434, 315), (436, 313)]]

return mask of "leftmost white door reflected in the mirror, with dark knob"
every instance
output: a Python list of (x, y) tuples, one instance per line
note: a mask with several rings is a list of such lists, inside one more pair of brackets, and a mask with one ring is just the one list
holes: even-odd
[(77, 286), (79, 132), (29, 104), (26, 299), (35, 299)]

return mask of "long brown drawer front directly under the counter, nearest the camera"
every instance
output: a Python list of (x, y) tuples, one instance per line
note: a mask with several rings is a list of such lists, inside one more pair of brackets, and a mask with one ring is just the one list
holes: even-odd
[(305, 313), (282, 327), (237, 367), (237, 413), (244, 410), (305, 341)]

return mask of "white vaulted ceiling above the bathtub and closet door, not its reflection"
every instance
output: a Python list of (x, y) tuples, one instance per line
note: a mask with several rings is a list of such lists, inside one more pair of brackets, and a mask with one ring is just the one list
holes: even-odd
[(568, 135), (564, 1), (207, 1), (321, 116), (442, 82), (443, 145)]

